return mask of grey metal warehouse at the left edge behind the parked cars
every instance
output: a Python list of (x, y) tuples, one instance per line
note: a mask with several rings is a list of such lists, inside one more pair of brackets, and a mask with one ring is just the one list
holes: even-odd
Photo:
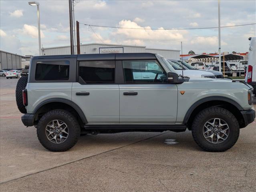
[(24, 56), (0, 51), (0, 69), (19, 69), (21, 68), (21, 59)]

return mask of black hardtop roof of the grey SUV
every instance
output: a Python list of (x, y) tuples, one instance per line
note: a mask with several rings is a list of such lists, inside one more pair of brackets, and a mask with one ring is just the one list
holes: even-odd
[(77, 58), (77, 60), (126, 60), (126, 59), (155, 59), (153, 53), (109, 53), (109, 54), (79, 54), (79, 55), (44, 55), (32, 59)]

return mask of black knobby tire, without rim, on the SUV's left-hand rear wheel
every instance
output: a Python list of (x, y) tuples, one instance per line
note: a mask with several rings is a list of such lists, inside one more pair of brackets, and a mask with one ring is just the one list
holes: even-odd
[[(69, 128), (69, 136), (60, 144), (51, 142), (45, 134), (47, 124), (55, 119), (65, 122)], [(62, 109), (56, 109), (47, 112), (40, 118), (36, 126), (36, 133), (38, 140), (44, 148), (54, 152), (62, 152), (69, 150), (77, 143), (80, 137), (81, 128), (77, 119), (70, 112)]]

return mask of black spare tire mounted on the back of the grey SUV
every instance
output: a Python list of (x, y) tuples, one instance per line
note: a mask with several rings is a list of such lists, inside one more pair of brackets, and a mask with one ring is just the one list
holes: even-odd
[(16, 85), (16, 104), (21, 113), (27, 113), (23, 105), (22, 90), (24, 90), (28, 83), (28, 76), (22, 76)]

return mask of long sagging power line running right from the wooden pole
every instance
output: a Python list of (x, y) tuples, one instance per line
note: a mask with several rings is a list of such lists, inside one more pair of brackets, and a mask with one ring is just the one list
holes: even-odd
[[(118, 28), (118, 29), (139, 29), (139, 30), (193, 30), (193, 29), (215, 29), (218, 27), (202, 27), (202, 28), (129, 28), (129, 27), (114, 27), (114, 26), (101, 26), (101, 25), (89, 25), (85, 23), (81, 23), (86, 26), (93, 26), (93, 27), (104, 27), (104, 28)], [(238, 26), (247, 26), (247, 25), (255, 25), (256, 23), (250, 23), (250, 24), (242, 24), (242, 25), (231, 25), (231, 26), (222, 26), (220, 28), (227, 28), (227, 27), (238, 27)]]

